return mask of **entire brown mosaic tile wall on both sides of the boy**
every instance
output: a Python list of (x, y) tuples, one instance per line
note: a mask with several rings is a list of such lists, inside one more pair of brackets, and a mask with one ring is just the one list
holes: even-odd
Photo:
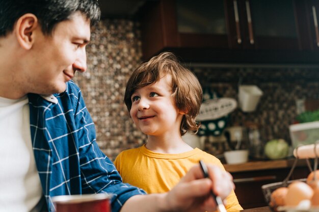
[[(146, 136), (136, 130), (123, 103), (125, 84), (141, 63), (139, 23), (103, 20), (92, 29), (87, 47), (88, 71), (77, 74), (89, 112), (96, 124), (97, 142), (111, 159), (123, 149), (137, 147)], [(315, 68), (191, 68), (203, 87), (237, 99), (237, 87), (255, 84), (263, 91), (256, 111), (236, 109), (230, 125), (246, 120), (259, 124), (261, 138), (290, 141), (288, 126), (296, 117), (296, 99), (319, 99), (319, 70)], [(210, 151), (206, 144), (207, 152)], [(212, 153), (214, 154), (214, 153)]]

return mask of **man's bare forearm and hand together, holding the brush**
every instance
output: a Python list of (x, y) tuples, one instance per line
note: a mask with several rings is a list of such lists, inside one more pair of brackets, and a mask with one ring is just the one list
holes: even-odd
[(210, 191), (225, 199), (234, 184), (232, 176), (218, 166), (207, 165), (210, 179), (204, 178), (199, 165), (191, 168), (168, 193), (136, 195), (129, 198), (121, 212), (200, 212), (215, 211)]

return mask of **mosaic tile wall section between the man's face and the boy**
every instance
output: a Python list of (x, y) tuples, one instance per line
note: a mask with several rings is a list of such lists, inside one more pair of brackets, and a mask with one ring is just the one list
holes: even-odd
[(141, 63), (138, 27), (129, 20), (100, 21), (87, 47), (87, 72), (74, 78), (95, 123), (97, 142), (112, 160), (146, 138), (135, 129), (123, 103), (126, 81)]

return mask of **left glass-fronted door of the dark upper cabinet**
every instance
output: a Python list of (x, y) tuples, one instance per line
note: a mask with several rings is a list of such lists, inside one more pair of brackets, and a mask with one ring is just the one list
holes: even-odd
[(228, 48), (224, 1), (169, 1), (175, 11), (175, 36), (181, 47)]

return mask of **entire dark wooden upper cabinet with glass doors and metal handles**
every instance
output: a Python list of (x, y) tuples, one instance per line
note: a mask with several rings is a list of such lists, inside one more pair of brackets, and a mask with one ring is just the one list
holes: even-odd
[(317, 64), (318, 2), (149, 1), (140, 11), (143, 57), (169, 50), (192, 62)]

